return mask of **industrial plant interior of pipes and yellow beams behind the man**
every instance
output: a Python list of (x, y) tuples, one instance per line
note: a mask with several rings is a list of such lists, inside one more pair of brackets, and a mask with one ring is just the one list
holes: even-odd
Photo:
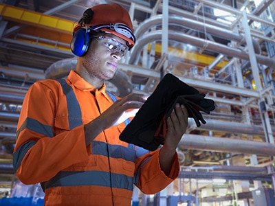
[(34, 82), (75, 68), (74, 25), (99, 3), (128, 10), (137, 39), (109, 91), (150, 95), (172, 73), (216, 106), (206, 124), (188, 119), (179, 178), (157, 194), (135, 188), (135, 205), (274, 206), (274, 0), (0, 0), (0, 205), (41, 203), (41, 186), (21, 183), (12, 166), (21, 104)]

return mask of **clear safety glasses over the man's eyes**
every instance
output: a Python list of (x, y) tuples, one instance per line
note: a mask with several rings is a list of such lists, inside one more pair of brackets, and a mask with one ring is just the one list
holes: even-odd
[(127, 45), (124, 45), (118, 42), (115, 38), (107, 37), (107, 36), (95, 36), (97, 38), (98, 43), (104, 45), (110, 52), (120, 52), (121, 56), (129, 50)]

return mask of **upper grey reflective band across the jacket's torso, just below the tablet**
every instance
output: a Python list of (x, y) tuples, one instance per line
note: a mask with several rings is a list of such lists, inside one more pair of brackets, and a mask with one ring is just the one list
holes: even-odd
[(102, 141), (91, 142), (91, 152), (93, 155), (103, 155), (105, 157), (122, 158), (126, 161), (135, 162), (135, 148), (124, 147), (120, 145), (108, 144), (109, 152), (107, 152), (107, 144)]

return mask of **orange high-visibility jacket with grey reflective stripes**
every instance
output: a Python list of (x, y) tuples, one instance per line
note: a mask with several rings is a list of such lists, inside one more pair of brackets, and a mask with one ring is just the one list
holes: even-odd
[(45, 205), (131, 205), (133, 184), (145, 194), (164, 189), (179, 174), (177, 154), (166, 176), (159, 150), (120, 141), (125, 124), (85, 145), (84, 124), (113, 100), (71, 71), (67, 80), (35, 82), (25, 95), (17, 127), (14, 170), (25, 184), (42, 183)]

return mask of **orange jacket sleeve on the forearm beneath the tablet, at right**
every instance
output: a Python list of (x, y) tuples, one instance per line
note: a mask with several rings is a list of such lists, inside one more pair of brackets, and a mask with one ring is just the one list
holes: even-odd
[[(141, 148), (137, 148), (137, 154), (140, 149)], [(138, 157), (135, 168), (135, 185), (137, 185), (144, 194), (155, 194), (163, 190), (177, 178), (179, 175), (179, 160), (177, 153), (175, 153), (170, 174), (166, 176), (160, 168), (159, 150), (155, 150)]]

